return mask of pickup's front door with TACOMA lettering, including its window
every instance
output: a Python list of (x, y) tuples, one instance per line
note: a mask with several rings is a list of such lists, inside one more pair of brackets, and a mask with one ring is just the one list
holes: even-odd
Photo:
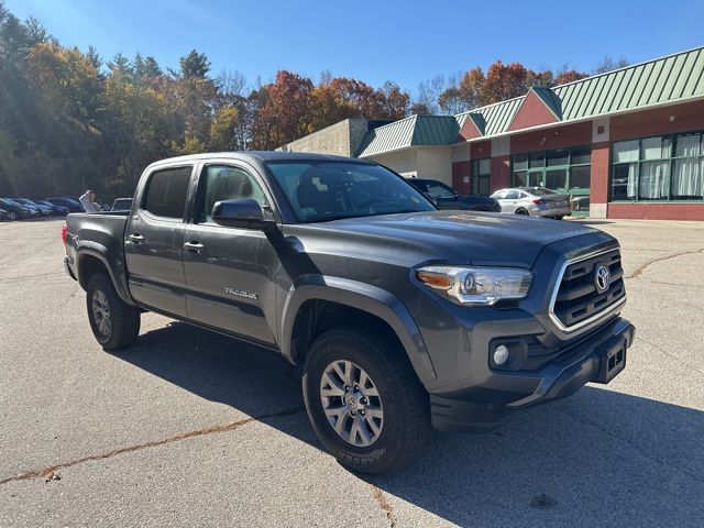
[(202, 169), (184, 238), (186, 305), (194, 321), (272, 344), (276, 252), (262, 231), (218, 226), (211, 216), (217, 201), (240, 198), (253, 199), (266, 211), (272, 201), (254, 174), (231, 164)]

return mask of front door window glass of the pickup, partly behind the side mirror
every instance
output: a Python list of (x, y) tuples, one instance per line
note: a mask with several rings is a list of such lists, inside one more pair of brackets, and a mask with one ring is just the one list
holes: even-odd
[(218, 201), (252, 199), (260, 207), (266, 205), (262, 187), (248, 172), (232, 166), (209, 165), (202, 175), (198, 223), (215, 223), (212, 208)]

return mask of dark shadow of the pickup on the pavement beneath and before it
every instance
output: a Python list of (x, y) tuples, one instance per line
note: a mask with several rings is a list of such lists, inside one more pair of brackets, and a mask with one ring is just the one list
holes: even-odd
[[(302, 409), (288, 363), (186, 323), (145, 332), (114, 355), (250, 416)], [(320, 448), (304, 413), (266, 422)], [(388, 494), (397, 526), (420, 518), (404, 502), (461, 526), (695, 526), (703, 439), (702, 411), (587, 386), (491, 433), (435, 433), (409, 468), (365, 480)]]

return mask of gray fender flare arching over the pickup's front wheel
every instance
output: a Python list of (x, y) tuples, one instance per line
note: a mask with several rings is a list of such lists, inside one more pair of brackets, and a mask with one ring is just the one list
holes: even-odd
[(372, 286), (327, 275), (304, 275), (288, 290), (280, 326), (280, 350), (292, 363), (292, 338), (299, 308), (307, 300), (328, 300), (372, 314), (384, 320), (398, 337), (422, 383), (436, 380), (426, 344), (408, 308), (393, 294)]

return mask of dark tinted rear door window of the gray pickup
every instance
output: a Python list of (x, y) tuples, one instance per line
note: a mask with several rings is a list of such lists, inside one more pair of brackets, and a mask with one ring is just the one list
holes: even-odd
[(193, 167), (169, 168), (153, 173), (143, 208), (166, 218), (183, 218)]

